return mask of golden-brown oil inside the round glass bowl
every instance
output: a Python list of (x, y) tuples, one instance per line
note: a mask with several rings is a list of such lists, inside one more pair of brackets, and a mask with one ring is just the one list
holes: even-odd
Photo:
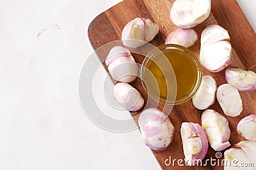
[(163, 59), (163, 53), (156, 53), (148, 60), (146, 67), (156, 78), (159, 87), (159, 89), (156, 89), (156, 83), (154, 83), (154, 80), (150, 81), (150, 76), (145, 72), (148, 89), (151, 89), (156, 95), (159, 94), (162, 99), (168, 99), (169, 96), (173, 95), (176, 90), (176, 86), (173, 85), (175, 78), (170, 74), (170, 71), (168, 73), (164, 72), (166, 69), (170, 69), (171, 64), (177, 81), (176, 99), (188, 96), (198, 81), (198, 68), (195, 60), (182, 50), (166, 48), (161, 52), (166, 55), (170, 63), (166, 63), (166, 60)]

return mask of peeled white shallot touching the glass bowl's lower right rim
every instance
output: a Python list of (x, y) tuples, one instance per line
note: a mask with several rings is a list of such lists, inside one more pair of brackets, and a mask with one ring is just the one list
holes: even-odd
[(215, 103), (216, 81), (212, 76), (205, 75), (195, 95), (192, 97), (192, 103), (198, 110), (205, 110)]

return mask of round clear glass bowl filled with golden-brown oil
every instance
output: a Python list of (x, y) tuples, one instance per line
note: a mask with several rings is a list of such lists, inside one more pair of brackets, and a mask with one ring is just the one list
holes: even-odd
[(202, 80), (202, 67), (193, 52), (180, 45), (161, 45), (148, 53), (141, 67), (141, 83), (148, 96), (164, 104), (180, 104), (193, 97)]

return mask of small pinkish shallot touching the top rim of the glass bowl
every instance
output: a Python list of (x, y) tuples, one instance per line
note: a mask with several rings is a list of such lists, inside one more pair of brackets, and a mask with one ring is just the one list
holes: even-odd
[(198, 39), (195, 29), (177, 29), (166, 38), (165, 44), (182, 45), (186, 48), (195, 45)]

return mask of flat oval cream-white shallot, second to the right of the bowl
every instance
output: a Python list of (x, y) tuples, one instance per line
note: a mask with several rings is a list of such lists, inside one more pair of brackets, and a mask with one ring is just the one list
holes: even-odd
[(217, 100), (225, 115), (237, 117), (243, 110), (243, 103), (238, 90), (229, 84), (220, 85), (217, 89)]

